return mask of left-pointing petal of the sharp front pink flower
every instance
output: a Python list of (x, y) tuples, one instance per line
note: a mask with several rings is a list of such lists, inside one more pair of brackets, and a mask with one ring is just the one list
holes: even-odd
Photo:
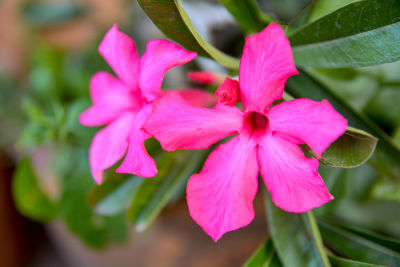
[(173, 92), (154, 102), (154, 106), (144, 128), (167, 151), (207, 148), (237, 132), (243, 121), (243, 112), (237, 107), (195, 107)]

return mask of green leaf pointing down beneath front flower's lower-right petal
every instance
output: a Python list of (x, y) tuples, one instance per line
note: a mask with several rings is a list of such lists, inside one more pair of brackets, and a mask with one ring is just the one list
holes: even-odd
[(311, 213), (288, 213), (266, 194), (269, 230), (285, 266), (330, 266)]

